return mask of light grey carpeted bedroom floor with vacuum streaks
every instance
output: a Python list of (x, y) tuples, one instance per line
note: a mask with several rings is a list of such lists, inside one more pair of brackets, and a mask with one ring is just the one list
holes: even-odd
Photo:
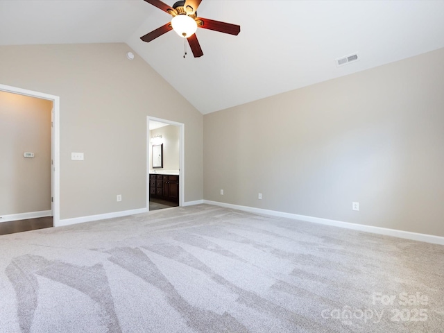
[(195, 205), (0, 236), (0, 332), (443, 332), (444, 246)]

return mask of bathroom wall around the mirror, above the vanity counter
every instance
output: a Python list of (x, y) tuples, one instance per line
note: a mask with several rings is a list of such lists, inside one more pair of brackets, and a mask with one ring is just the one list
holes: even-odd
[[(158, 141), (158, 144), (163, 145), (163, 170), (179, 170), (180, 169), (180, 128), (175, 125), (164, 126), (161, 128), (156, 128), (151, 130), (150, 137), (155, 135), (162, 135), (162, 139)], [(157, 142), (155, 143), (157, 144)], [(152, 169), (152, 158), (151, 155), (153, 151), (151, 150), (150, 144), (150, 168)]]

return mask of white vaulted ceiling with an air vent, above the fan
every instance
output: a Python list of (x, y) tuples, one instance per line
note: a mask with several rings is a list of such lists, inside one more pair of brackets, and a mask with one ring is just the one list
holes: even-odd
[(125, 42), (203, 114), (444, 47), (444, 1), (203, 0), (198, 16), (241, 33), (198, 29), (204, 56), (184, 59), (173, 31), (139, 39), (171, 19), (143, 0), (0, 0), (0, 45)]

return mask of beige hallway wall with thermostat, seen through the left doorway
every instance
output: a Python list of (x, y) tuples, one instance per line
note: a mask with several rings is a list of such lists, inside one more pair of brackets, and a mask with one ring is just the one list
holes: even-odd
[(0, 91), (0, 216), (51, 210), (51, 110), (51, 101)]

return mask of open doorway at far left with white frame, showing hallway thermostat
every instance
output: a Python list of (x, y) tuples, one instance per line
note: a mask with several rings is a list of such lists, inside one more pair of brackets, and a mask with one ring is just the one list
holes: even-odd
[[(59, 97), (8, 85), (0, 85), (0, 93), (6, 108), (2, 124), (10, 126), (2, 131), (2, 142), (7, 142), (2, 148), (6, 168), (2, 176), (7, 182), (2, 183), (10, 187), (2, 186), (0, 224), (12, 232), (33, 230), (37, 220), (46, 217), (42, 228), (56, 226), (60, 221)], [(42, 144), (33, 142), (37, 139)]]

